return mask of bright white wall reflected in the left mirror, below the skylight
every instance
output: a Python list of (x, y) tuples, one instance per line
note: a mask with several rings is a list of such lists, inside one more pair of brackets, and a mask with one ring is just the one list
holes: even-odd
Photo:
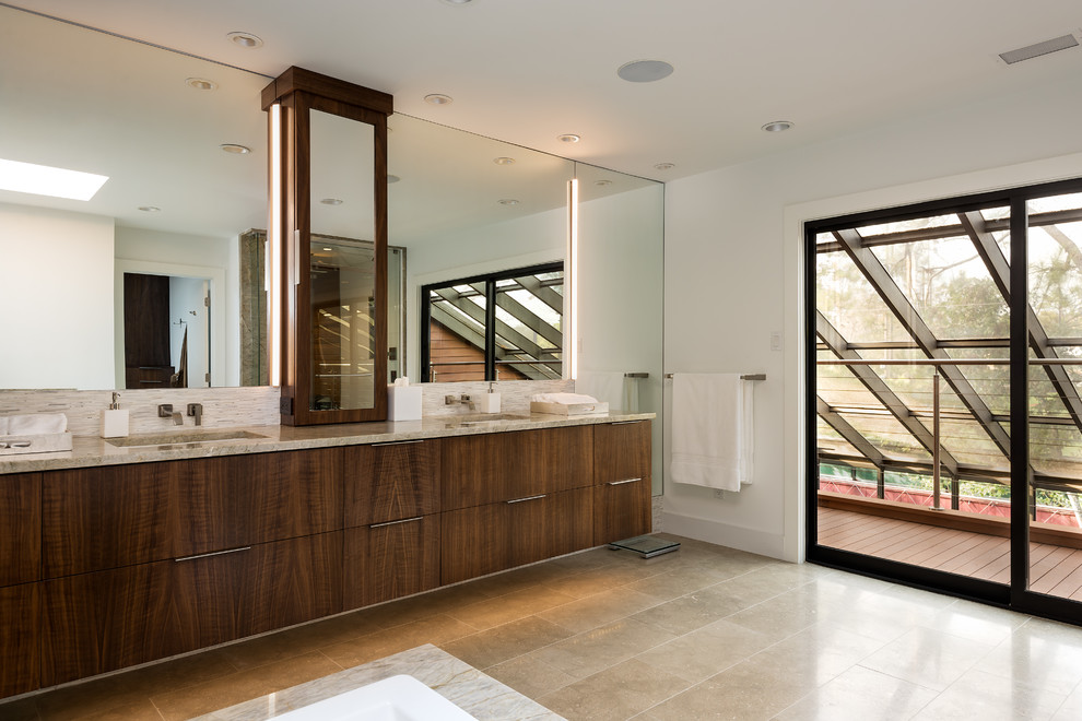
[(113, 388), (113, 218), (0, 204), (0, 388)]

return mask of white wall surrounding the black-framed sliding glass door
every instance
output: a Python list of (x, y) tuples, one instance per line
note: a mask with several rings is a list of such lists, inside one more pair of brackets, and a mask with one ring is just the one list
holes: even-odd
[[(803, 557), (804, 221), (1082, 176), (1080, 117), (1077, 84), (1033, 86), (668, 184), (667, 370), (767, 380), (756, 385), (753, 485), (719, 500), (666, 478), (665, 530)], [(784, 351), (771, 351), (772, 331)]]

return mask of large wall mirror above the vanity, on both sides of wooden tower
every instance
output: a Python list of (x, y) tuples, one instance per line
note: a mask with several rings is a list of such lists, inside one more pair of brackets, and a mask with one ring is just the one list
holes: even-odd
[[(176, 279), (164, 335), (172, 355), (187, 332), (189, 386), (259, 383), (242, 357), (259, 355), (264, 319), (242, 289), (261, 288), (261, 270), (242, 283), (242, 259), (258, 245), (246, 232), (267, 226), (269, 79), (7, 7), (0, 58), (0, 158), (109, 177), (90, 201), (0, 190), (0, 303), (21, 310), (0, 317), (0, 388), (124, 387), (129, 274)], [(580, 371), (649, 374), (625, 390), (659, 411), (662, 186), (408, 116), (388, 125), (389, 370), (420, 377), (422, 285), (563, 260), (577, 177)]]

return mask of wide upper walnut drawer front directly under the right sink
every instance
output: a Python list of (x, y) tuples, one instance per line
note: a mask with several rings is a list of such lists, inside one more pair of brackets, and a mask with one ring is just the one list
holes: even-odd
[(591, 426), (443, 439), (443, 510), (592, 485)]

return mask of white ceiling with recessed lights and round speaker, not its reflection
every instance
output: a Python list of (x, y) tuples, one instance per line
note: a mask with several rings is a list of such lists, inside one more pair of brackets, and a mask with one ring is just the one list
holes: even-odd
[[(396, 109), (670, 180), (884, 122), (1082, 76), (1078, 0), (22, 0), (17, 7), (269, 76), (299, 66)], [(235, 47), (244, 31), (266, 45)], [(616, 78), (637, 59), (675, 72)], [(423, 102), (430, 93), (455, 98)], [(771, 120), (796, 123), (765, 133)], [(561, 133), (580, 134), (569, 145)], [(673, 163), (657, 170), (657, 163)]]

